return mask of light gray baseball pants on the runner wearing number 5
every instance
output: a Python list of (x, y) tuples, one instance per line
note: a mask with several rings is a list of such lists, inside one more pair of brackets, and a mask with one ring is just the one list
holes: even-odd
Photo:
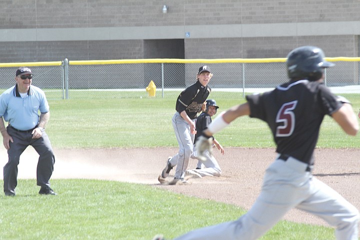
[(199, 228), (174, 240), (257, 239), (296, 207), (335, 227), (338, 240), (357, 240), (358, 210), (331, 187), (316, 179), (307, 164), (289, 157), (266, 169), (261, 193), (251, 209), (234, 221)]

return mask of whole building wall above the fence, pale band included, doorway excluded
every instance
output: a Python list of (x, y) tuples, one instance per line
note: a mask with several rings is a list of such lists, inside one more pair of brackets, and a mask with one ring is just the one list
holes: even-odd
[(161, 39), (183, 40), (184, 58), (285, 57), (305, 44), (359, 56), (359, 12), (359, 0), (6, 0), (0, 62), (152, 58), (144, 41)]

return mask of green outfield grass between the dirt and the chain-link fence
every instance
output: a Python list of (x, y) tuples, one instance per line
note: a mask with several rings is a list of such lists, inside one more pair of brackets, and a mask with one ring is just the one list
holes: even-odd
[[(49, 100), (51, 117), (46, 132), (52, 144), (64, 148), (177, 146), (171, 117), (178, 92), (166, 92), (165, 98), (135, 98), (131, 97), (133, 93), (126, 92), (113, 94), (103, 98), (89, 95), (87, 99)], [(357, 113), (358, 95), (345, 96)], [(244, 102), (238, 92), (211, 93), (209, 97), (220, 106), (218, 113)], [(274, 147), (266, 123), (247, 116), (236, 119), (215, 137), (224, 147)], [(346, 135), (330, 117), (324, 118), (317, 147), (359, 145), (358, 137)]]

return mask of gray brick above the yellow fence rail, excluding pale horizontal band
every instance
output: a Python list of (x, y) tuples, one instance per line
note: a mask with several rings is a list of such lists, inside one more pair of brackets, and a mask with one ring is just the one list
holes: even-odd
[[(168, 13), (161, 12), (162, 5)], [(359, 0), (7, 0), (0, 29), (191, 26), (360, 21)], [(359, 26), (360, 28), (360, 26)], [(212, 33), (210, 33), (212, 34)], [(142, 58), (143, 39), (0, 41), (0, 61)], [(358, 35), (183, 38), (185, 58), (284, 57), (314, 44), (327, 56), (358, 56)]]

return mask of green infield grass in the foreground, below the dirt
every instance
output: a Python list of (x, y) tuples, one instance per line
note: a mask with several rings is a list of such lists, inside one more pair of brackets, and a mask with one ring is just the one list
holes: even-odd
[[(0, 239), (151, 240), (237, 219), (230, 204), (169, 193), (149, 185), (105, 180), (54, 179), (58, 195), (37, 193), (20, 179), (15, 197), (0, 196)], [(261, 239), (334, 239), (322, 226), (280, 221)]]

